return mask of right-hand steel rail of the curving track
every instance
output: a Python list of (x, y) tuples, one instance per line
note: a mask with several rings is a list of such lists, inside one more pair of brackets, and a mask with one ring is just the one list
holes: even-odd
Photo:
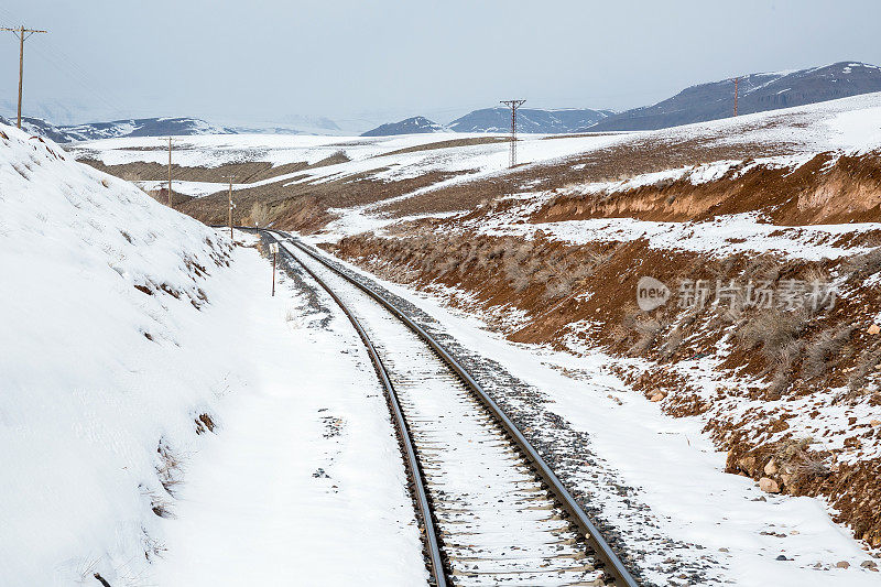
[[(563, 509), (569, 515), (570, 520), (575, 523), (575, 525), (579, 529), (581, 534), (585, 536), (587, 543), (594, 548), (595, 555), (599, 558), (600, 562), (603, 563), (607, 570), (610, 575), (612, 575), (616, 585), (618, 586), (626, 586), (626, 587), (638, 587), (638, 583), (631, 576), (630, 572), (624, 566), (623, 562), (620, 559), (618, 554), (609, 546), (609, 543), (606, 542), (606, 539), (602, 537), (599, 529), (590, 521), (588, 515), (581, 509), (580, 506), (575, 501), (575, 498), (572, 497), (572, 493), (566, 489), (553, 469), (545, 463), (544, 458), (539, 454), (539, 452), (532, 446), (532, 444), (526, 439), (520, 428), (511, 421), (510, 417), (502, 411), (502, 409), (496, 403), (496, 401), (489, 396), (489, 394), (483, 391), (483, 388), (475, 381), (475, 379), (468, 373), (468, 371), (459, 365), (459, 362), (453, 358), (453, 356), (447, 352), (447, 350), (437, 343), (428, 333), (426, 333), (420, 325), (413, 322), (407, 315), (401, 312), (394, 304), (385, 300), (382, 295), (373, 291), (371, 287), (360, 283), (358, 280), (352, 279), (351, 276), (347, 275), (345, 272), (340, 271), (338, 268), (334, 267), (330, 262), (328, 262), (323, 256), (314, 252), (307, 246), (303, 244), (302, 242), (295, 240), (290, 233), (286, 233), (281, 230), (267, 230), (267, 232), (274, 232), (276, 235), (281, 235), (285, 242), (290, 242), (304, 253), (308, 254), (324, 267), (331, 270), (334, 273), (342, 276), (346, 281), (365, 292), (368, 296), (373, 298), (380, 305), (382, 305), (385, 309), (388, 309), (392, 315), (394, 315), (398, 319), (403, 322), (411, 330), (413, 330), (423, 341), (425, 341), (440, 359), (461, 379), (461, 381), (471, 390), (471, 392), (480, 400), (480, 402), (490, 411), (490, 413), (496, 417), (496, 420), (501, 424), (502, 428), (513, 438), (514, 443), (523, 452), (523, 454), (532, 461), (532, 464), (537, 469), (539, 476), (542, 480), (548, 486), (551, 491), (557, 498), (559, 503), (563, 506)], [(290, 251), (289, 251), (289, 254)], [(294, 259), (295, 256), (291, 254)], [(301, 267), (306, 267), (298, 259), (297, 262)], [(314, 273), (306, 269), (314, 276)], [(317, 278), (316, 278), (317, 280)], [(320, 282), (320, 280), (317, 280)], [(326, 285), (323, 284), (325, 290), (330, 292)], [(330, 293), (331, 296), (336, 298), (336, 295)], [(354, 318), (352, 318), (354, 319)]]

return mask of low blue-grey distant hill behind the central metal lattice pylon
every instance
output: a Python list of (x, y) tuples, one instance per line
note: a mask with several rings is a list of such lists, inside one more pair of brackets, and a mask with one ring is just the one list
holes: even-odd
[[(559, 109), (540, 110), (520, 108), (516, 115), (518, 132), (563, 133), (578, 132), (611, 116), (610, 110)], [(511, 110), (483, 108), (458, 118), (448, 124), (457, 132), (508, 132), (511, 130)]]

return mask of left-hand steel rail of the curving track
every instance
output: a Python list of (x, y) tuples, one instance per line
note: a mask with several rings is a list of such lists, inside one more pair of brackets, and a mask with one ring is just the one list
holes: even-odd
[[(275, 236), (275, 231), (271, 230), (261, 230), (262, 232), (273, 235), (275, 240), (279, 240)], [(286, 240), (286, 238), (285, 238)], [(296, 258), (291, 251), (281, 247), (281, 250), (286, 253), (291, 259), (296, 261), (296, 263), (302, 267), (306, 273), (308, 273), (312, 279), (314, 279), (318, 285), (320, 285), (329, 295), (334, 298), (334, 302), (340, 307), (346, 317), (349, 318), (355, 329), (358, 331), (358, 336), (361, 337), (361, 341), (365, 344), (368, 354), (370, 355), (370, 360), (373, 363), (373, 368), (377, 371), (377, 374), (380, 378), (382, 387), (385, 391), (385, 399), (391, 406), (392, 416), (394, 417), (394, 424), (398, 428), (398, 434), (401, 438), (401, 444), (404, 448), (404, 456), (406, 461), (407, 471), (410, 472), (410, 477), (413, 483), (413, 492), (416, 501), (416, 506), (420, 510), (420, 515), (422, 518), (424, 534), (425, 534), (425, 545), (426, 551), (428, 554), (429, 567), (432, 578), (434, 579), (434, 584), (436, 587), (446, 587), (447, 579), (446, 579), (446, 570), (444, 566), (443, 556), (440, 553), (440, 545), (437, 540), (437, 529), (434, 525), (434, 519), (432, 517), (432, 504), (431, 500), (428, 499), (428, 492), (425, 489), (425, 477), (423, 476), (422, 468), (420, 466), (418, 457), (416, 456), (416, 450), (413, 444), (413, 439), (410, 436), (410, 430), (406, 425), (406, 420), (404, 418), (404, 413), (401, 410), (401, 404), (398, 401), (398, 393), (394, 390), (394, 385), (392, 384), (391, 379), (389, 378), (389, 372), (385, 370), (385, 366), (382, 363), (382, 359), (380, 359), (379, 354), (377, 352), (373, 343), (370, 340), (370, 337), (367, 335), (367, 331), (361, 326), (361, 323), (358, 322), (358, 318), (355, 314), (346, 306), (342, 300), (334, 293), (333, 290), (325, 283), (322, 278), (315, 274), (305, 263), (303, 263), (300, 259)]]

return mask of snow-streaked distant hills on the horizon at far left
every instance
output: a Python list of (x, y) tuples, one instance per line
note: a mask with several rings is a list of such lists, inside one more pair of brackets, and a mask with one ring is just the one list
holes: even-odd
[[(14, 118), (0, 117), (0, 122), (15, 126)], [(229, 134), (235, 132), (198, 118), (137, 118), (115, 120), (112, 122), (55, 126), (40, 118), (22, 117), (22, 128), (31, 134), (46, 137), (57, 143), (116, 139), (119, 137)]]

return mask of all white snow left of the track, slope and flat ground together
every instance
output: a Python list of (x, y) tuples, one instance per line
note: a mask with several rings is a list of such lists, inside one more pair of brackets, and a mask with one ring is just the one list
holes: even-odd
[(424, 580), (357, 336), (254, 248), (0, 126), (0, 585)]

